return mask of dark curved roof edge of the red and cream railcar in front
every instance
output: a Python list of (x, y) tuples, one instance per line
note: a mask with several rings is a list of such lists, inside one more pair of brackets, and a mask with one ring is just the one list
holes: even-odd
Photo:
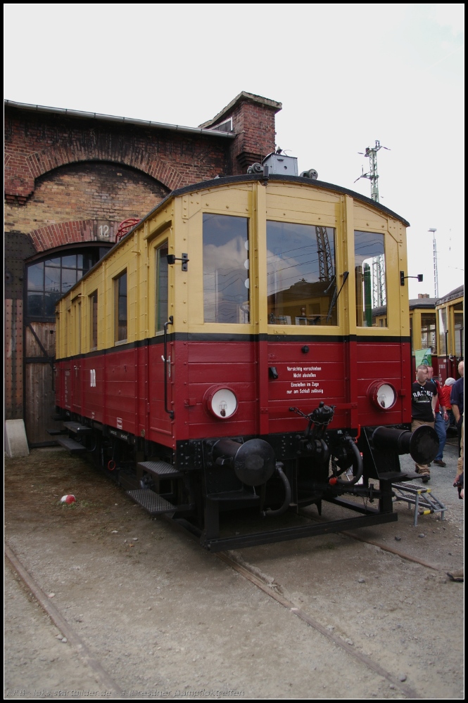
[[(199, 183), (194, 183), (191, 186), (184, 186), (184, 188), (177, 188), (175, 191), (171, 191), (166, 195), (166, 197), (158, 202), (158, 205), (156, 207), (153, 207), (148, 214), (145, 215), (145, 217), (142, 217), (141, 220), (136, 224), (134, 227), (132, 227), (131, 230), (127, 232), (127, 234), (122, 237), (118, 242), (115, 243), (115, 245), (120, 244), (123, 242), (127, 237), (131, 236), (132, 233), (144, 222), (146, 222), (147, 219), (150, 217), (153, 217), (153, 214), (158, 212), (159, 209), (165, 207), (167, 202), (169, 202), (172, 198), (177, 198), (178, 195), (186, 195), (186, 193), (196, 193), (196, 191), (202, 191), (205, 190), (205, 188), (219, 188), (220, 186), (227, 186), (230, 185), (231, 183), (249, 183), (253, 181), (261, 181), (267, 183), (268, 181), (282, 181), (283, 183), (294, 183), (295, 185), (301, 183), (305, 186), (317, 186), (318, 188), (325, 188), (327, 191), (333, 191), (334, 193), (344, 193), (345, 195), (351, 195), (354, 200), (360, 200), (360, 202), (364, 202), (366, 205), (372, 205), (372, 207), (375, 207), (378, 210), (381, 210), (381, 212), (385, 212), (388, 215), (391, 215), (391, 217), (395, 217), (395, 219), (398, 219), (400, 222), (402, 222), (406, 227), (410, 226), (410, 223), (405, 220), (401, 215), (397, 214), (396, 212), (393, 212), (393, 210), (389, 209), (388, 207), (385, 207), (385, 205), (381, 205), (379, 202), (375, 202), (375, 200), (372, 200), (372, 198), (367, 198), (365, 195), (362, 195), (361, 193), (355, 193), (355, 191), (350, 191), (348, 188), (342, 188), (341, 186), (336, 186), (334, 183), (327, 183), (326, 181), (316, 181), (308, 178), (303, 178), (302, 176), (279, 176), (277, 174), (271, 174), (267, 176), (267, 178), (264, 178), (261, 174), (245, 174), (241, 176), (216, 176), (214, 179), (211, 179), (210, 181), (200, 181)], [(110, 254), (113, 252), (114, 247), (111, 247), (106, 254), (102, 257), (102, 259), (99, 259), (99, 262), (95, 264), (92, 269), (89, 269), (87, 273), (84, 274), (82, 278), (80, 278), (80, 281), (89, 276), (91, 271), (94, 271), (96, 266), (99, 266), (101, 262), (104, 261)], [(75, 285), (72, 286), (66, 293), (63, 294), (62, 297), (65, 297), (65, 295), (68, 295), (68, 293), (75, 288), (80, 281), (77, 281)]]

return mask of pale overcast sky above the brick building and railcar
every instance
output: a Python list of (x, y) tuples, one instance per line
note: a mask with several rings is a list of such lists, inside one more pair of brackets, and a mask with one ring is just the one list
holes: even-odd
[(8, 100), (195, 127), (241, 91), (283, 104), (300, 171), (410, 221), (410, 297), (464, 282), (464, 4), (4, 4)]

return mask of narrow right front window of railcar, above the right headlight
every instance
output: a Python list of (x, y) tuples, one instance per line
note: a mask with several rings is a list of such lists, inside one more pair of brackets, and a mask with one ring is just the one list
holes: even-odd
[(386, 327), (387, 316), (383, 317), (387, 312), (384, 235), (355, 231), (354, 257), (356, 325)]

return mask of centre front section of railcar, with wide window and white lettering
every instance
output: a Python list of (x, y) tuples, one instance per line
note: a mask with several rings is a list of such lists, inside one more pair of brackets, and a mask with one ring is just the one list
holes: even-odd
[(268, 431), (293, 431), (290, 408), (345, 401), (336, 229), (267, 219), (266, 235)]

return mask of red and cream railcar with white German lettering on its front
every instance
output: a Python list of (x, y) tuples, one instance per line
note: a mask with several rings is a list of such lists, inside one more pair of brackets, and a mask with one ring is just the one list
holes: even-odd
[[(224, 509), (273, 520), (325, 500), (358, 510), (356, 526), (396, 519), (391, 480), (411, 437), (406, 226), (362, 195), (267, 169), (174, 191), (58, 303), (70, 432), (213, 550), (324, 529), (222, 538)], [(412, 452), (431, 446), (412, 437)], [(378, 507), (363, 507), (369, 495)]]

